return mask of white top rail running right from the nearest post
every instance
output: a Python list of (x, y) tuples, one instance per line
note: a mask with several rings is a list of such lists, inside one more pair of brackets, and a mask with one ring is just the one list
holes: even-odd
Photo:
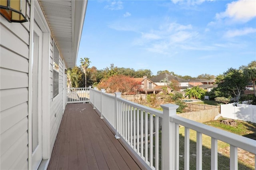
[(256, 140), (185, 119), (178, 115), (170, 116), (170, 121), (256, 154)]

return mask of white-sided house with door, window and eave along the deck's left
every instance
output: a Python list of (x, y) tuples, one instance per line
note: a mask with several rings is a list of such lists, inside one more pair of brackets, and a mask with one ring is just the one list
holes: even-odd
[(9, 10), (0, 16), (0, 169), (44, 169), (66, 106), (64, 70), (76, 65), (87, 0), (19, 4), (27, 22), (8, 22)]

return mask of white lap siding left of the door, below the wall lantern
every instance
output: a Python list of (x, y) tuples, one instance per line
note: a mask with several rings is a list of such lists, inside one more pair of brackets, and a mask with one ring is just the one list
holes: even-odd
[(0, 169), (3, 170), (28, 169), (29, 29), (29, 21), (9, 23), (0, 16)]

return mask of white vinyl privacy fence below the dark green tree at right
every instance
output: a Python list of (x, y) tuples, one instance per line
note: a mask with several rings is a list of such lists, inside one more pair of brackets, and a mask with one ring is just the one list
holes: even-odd
[(221, 116), (229, 119), (256, 123), (256, 106), (234, 103), (221, 105)]

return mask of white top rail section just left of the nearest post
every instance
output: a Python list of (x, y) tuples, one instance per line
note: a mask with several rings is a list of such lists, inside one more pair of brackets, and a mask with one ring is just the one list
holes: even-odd
[(163, 112), (162, 111), (158, 111), (156, 109), (153, 109), (153, 108), (150, 108), (150, 107), (146, 107), (144, 105), (140, 105), (138, 103), (134, 103), (134, 102), (131, 102), (131, 101), (128, 101), (126, 99), (122, 99), (122, 98), (118, 98), (117, 99), (118, 101), (121, 101), (123, 103), (126, 103), (132, 107), (136, 107), (137, 109), (140, 109), (140, 110), (143, 110), (147, 113), (150, 113), (150, 114), (153, 114), (153, 115), (156, 115), (156, 116), (159, 116), (159, 117), (163, 117)]

